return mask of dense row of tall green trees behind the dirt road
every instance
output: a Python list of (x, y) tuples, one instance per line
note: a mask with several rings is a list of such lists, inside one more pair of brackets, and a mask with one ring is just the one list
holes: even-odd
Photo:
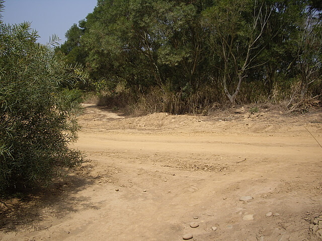
[(321, 7), (309, 0), (99, 0), (61, 50), (86, 65), (94, 86), (154, 93), (158, 110), (291, 100), (321, 94)]

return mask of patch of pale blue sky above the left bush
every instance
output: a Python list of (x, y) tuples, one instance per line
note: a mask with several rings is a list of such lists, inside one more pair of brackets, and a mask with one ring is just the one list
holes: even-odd
[(31, 22), (38, 31), (37, 42), (46, 44), (56, 34), (62, 44), (66, 31), (92, 13), (97, 0), (6, 0), (3, 21), (7, 24)]

